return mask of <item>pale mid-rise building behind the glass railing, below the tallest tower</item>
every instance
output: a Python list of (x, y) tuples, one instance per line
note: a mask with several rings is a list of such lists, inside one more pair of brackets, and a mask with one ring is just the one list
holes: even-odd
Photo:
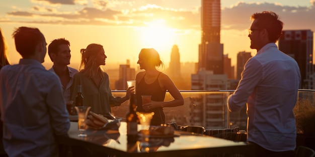
[[(213, 74), (212, 71), (200, 70), (191, 75), (192, 90), (226, 89), (225, 74)], [(224, 128), (227, 122), (227, 95), (215, 92), (194, 98), (195, 106), (191, 110), (191, 123), (205, 128)]]

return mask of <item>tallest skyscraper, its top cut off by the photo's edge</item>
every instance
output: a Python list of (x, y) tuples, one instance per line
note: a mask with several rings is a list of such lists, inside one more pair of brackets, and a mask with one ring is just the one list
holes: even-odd
[(202, 0), (201, 44), (199, 45), (198, 69), (223, 74), (223, 44), (220, 44), (220, 0)]

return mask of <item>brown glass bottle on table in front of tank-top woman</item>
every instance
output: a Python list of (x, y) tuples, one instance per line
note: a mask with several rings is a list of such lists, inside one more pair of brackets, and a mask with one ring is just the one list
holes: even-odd
[(127, 141), (136, 142), (138, 138), (138, 116), (136, 114), (135, 94), (130, 96), (129, 112), (127, 119)]

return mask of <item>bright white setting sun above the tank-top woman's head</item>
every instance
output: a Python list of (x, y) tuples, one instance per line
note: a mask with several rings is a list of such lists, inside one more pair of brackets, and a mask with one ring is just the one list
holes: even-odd
[(168, 28), (165, 20), (154, 20), (141, 28), (140, 41), (146, 48), (171, 50), (176, 43), (176, 30)]

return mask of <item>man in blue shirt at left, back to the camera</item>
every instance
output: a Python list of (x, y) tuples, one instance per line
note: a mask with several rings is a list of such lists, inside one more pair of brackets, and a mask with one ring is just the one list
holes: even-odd
[(70, 127), (59, 78), (41, 64), (46, 41), (37, 28), (13, 33), (22, 59), (0, 71), (4, 147), (9, 156), (58, 156), (55, 135)]

